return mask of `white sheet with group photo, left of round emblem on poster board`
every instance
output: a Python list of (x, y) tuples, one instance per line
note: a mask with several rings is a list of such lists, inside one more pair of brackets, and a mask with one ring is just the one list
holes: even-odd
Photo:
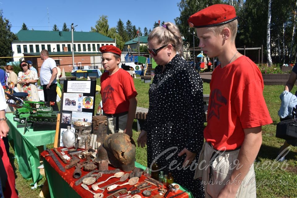
[(79, 104), (81, 106), (83, 94), (82, 93), (64, 93), (63, 95), (63, 110), (65, 111), (81, 111), (82, 108), (78, 108)]

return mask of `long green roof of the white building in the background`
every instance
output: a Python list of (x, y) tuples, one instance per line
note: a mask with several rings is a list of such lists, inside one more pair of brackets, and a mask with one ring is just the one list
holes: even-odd
[[(71, 41), (71, 32), (20, 30), (16, 34), (19, 41)], [(114, 41), (98, 32), (73, 32), (73, 41)]]

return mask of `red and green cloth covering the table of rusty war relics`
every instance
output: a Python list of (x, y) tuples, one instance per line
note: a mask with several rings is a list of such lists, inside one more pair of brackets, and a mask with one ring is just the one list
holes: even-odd
[[(61, 147), (62, 148), (62, 147)], [(61, 148), (58, 148), (58, 150), (60, 151)], [(62, 166), (66, 166), (66, 164), (64, 164), (60, 158), (56, 155), (56, 153), (53, 151), (54, 155), (58, 158), (58, 161), (61, 162)], [(67, 152), (66, 152), (67, 153)], [(79, 197), (93, 197), (93, 194), (91, 192), (88, 192), (87, 190), (85, 190), (83, 187), (81, 187), (80, 185), (75, 186), (75, 182), (77, 181), (77, 179), (74, 179), (72, 177), (73, 175), (73, 171), (75, 169), (75, 167), (72, 167), (70, 169), (67, 169), (65, 172), (62, 172), (58, 166), (55, 164), (54, 160), (52, 159), (52, 157), (46, 157), (45, 155), (47, 155), (48, 152), (47, 151), (43, 151), (41, 153), (41, 156), (43, 157), (43, 163), (44, 163), (44, 168), (45, 168), (45, 174), (48, 180), (48, 184), (49, 184), (49, 192), (50, 192), (50, 196), (52, 198), (55, 197), (71, 197), (71, 198), (79, 198)], [(81, 160), (82, 162), (82, 160)], [(139, 163), (135, 162), (135, 166), (136, 167), (140, 167), (142, 169), (144, 169), (145, 167), (140, 165)], [(108, 167), (109, 170), (113, 170), (114, 168), (109, 166)], [(87, 174), (88, 172), (85, 172), (84, 170), (82, 171), (82, 176), (84, 176), (85, 174)], [(109, 178), (110, 176), (112, 176), (114, 174), (103, 174), (101, 178), (99, 178), (97, 180), (97, 182), (100, 181), (104, 181), (107, 178)], [(139, 182), (143, 182), (145, 179), (144, 175), (142, 175), (139, 179)], [(110, 180), (108, 180), (107, 182), (100, 184), (99, 187), (103, 187), (105, 185), (108, 185), (109, 183), (113, 183), (115, 181), (118, 181), (119, 178), (111, 178)], [(128, 179), (125, 181), (127, 182)], [(125, 182), (118, 182), (116, 184), (122, 184)], [(88, 185), (89, 189), (92, 190), (91, 188), (92, 185)], [(131, 186), (130, 185), (124, 185), (121, 187), (117, 187), (116, 189), (120, 189), (126, 187), (127, 189), (129, 189)], [(154, 188), (154, 186), (153, 186)], [(92, 190), (93, 191), (93, 190)], [(174, 196), (182, 191), (185, 191), (184, 188), (180, 187), (180, 190), (178, 190), (178, 192), (170, 192), (169, 195), (167, 197), (170, 196)], [(95, 192), (95, 191), (93, 191)], [(102, 192), (101, 190), (97, 190), (96, 193)], [(104, 197), (109, 196), (110, 194), (107, 194), (107, 189), (105, 189), (105, 191), (103, 192)], [(142, 191), (141, 191), (142, 192)], [(138, 193), (138, 195), (142, 194)], [(153, 191), (152, 192), (152, 196), (158, 194), (157, 191)], [(188, 194), (183, 193), (182, 195), (178, 196), (178, 198), (187, 198), (187, 197), (191, 197), (190, 193)]]

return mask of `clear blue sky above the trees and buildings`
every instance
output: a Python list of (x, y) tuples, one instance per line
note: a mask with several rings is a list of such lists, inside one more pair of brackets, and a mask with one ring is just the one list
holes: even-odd
[(101, 15), (108, 16), (110, 28), (116, 27), (119, 19), (125, 25), (129, 19), (132, 25), (140, 27), (143, 32), (144, 27), (152, 29), (154, 22), (159, 19), (161, 22), (174, 23), (174, 18), (180, 15), (178, 2), (180, 0), (0, 0), (0, 9), (10, 21), (14, 33), (21, 29), (23, 23), (28, 29), (52, 30), (56, 24), (62, 30), (64, 22), (69, 27), (71, 23), (78, 25), (76, 31), (89, 32)]

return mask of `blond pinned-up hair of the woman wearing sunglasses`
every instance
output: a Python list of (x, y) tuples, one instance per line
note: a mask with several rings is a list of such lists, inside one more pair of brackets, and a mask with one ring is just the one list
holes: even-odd
[(156, 27), (149, 34), (148, 41), (155, 40), (158, 44), (171, 44), (173, 49), (183, 56), (183, 39), (180, 35), (179, 28), (171, 22)]

